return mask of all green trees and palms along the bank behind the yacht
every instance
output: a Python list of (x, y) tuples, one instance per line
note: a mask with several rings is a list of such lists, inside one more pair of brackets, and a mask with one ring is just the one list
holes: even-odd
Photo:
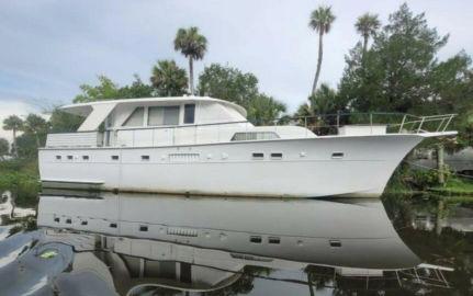
[[(385, 24), (378, 14), (360, 15), (353, 24), (360, 38), (345, 56), (345, 70), (336, 88), (323, 82), (323, 49), (335, 46), (323, 41), (325, 35), (337, 30), (336, 11), (322, 5), (307, 16), (307, 30), (314, 31), (314, 42), (318, 43), (318, 52), (314, 53), (316, 71), (313, 84), (307, 86), (306, 102), (293, 114), (288, 113), (280, 98), (260, 91), (256, 75), (228, 64), (209, 62), (202, 72), (195, 73), (194, 86), (194, 62), (204, 59), (211, 44), (195, 26), (178, 30), (173, 42), (169, 42), (169, 46), (188, 59), (188, 70), (174, 60), (160, 59), (150, 65), (147, 81), (135, 75), (129, 84), (119, 86), (111, 78), (99, 76), (97, 84), (80, 86), (80, 93), (72, 101), (195, 93), (244, 106), (248, 119), (256, 125), (273, 124), (278, 118), (286, 122), (289, 117), (311, 116), (308, 126), (322, 134), (325, 127), (336, 124), (334, 117), (326, 116), (328, 114), (349, 114), (341, 124), (356, 122), (356, 114), (360, 113), (458, 114), (451, 123), (451, 129), (459, 132), (455, 139), (426, 140), (421, 148), (436, 149), (443, 155), (443, 150), (472, 147), (472, 59), (464, 50), (440, 59), (438, 52), (448, 43), (449, 35), (440, 35), (435, 26), (430, 26), (425, 13), (416, 14), (404, 3), (390, 14)], [(11, 130), (13, 141), (10, 144), (0, 138), (0, 192), (10, 191), (19, 206), (37, 203), (41, 191), (37, 148), (44, 146), (46, 135), (75, 132), (82, 121), (57, 107), (48, 113), (48, 119), (30, 114), (25, 118), (11, 115), (3, 121), (3, 129)], [(459, 178), (443, 168), (423, 171), (402, 163), (385, 193), (473, 196), (472, 179)]]

